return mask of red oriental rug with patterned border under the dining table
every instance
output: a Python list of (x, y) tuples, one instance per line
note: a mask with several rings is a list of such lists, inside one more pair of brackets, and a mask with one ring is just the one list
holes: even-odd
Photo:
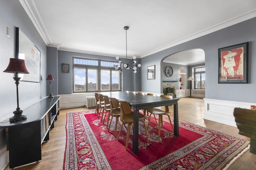
[[(132, 152), (132, 129), (125, 150), (126, 127), (119, 141), (94, 115), (95, 110), (67, 113), (66, 150), (63, 170), (222, 170), (249, 149), (249, 141), (179, 120), (180, 136), (174, 136), (164, 119), (161, 137), (158, 124), (151, 119), (146, 141), (139, 124), (139, 152)], [(173, 119), (172, 119), (173, 121)], [(118, 123), (117, 135), (121, 127)], [(146, 125), (148, 121), (146, 120)]]

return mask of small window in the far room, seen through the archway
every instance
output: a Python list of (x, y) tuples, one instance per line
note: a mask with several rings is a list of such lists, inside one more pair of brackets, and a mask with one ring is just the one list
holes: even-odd
[(195, 89), (205, 89), (205, 67), (194, 68)]

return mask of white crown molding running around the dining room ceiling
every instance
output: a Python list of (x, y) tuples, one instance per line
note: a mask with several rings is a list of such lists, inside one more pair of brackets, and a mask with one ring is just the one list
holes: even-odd
[[(49, 46), (49, 47), (52, 47), (52, 44), (55, 44), (56, 43), (52, 43), (51, 39), (50, 39), (50, 36), (48, 35), (48, 32), (46, 30), (46, 27), (42, 21), (42, 18), (36, 8), (36, 4), (34, 3), (34, 0), (19, 0), (20, 1), (20, 4), (22, 5), (22, 7), (24, 8), (24, 10), (26, 11), (26, 13), (28, 14), (30, 20), (32, 21), (32, 23), (35, 25), (38, 33), (40, 34), (40, 36), (42, 37), (44, 43)], [(226, 27), (229, 27), (229, 26), (232, 26), (234, 24), (237, 24), (237, 23), (240, 23), (242, 21), (246, 21), (246, 20), (249, 20), (251, 18), (254, 18), (256, 17), (256, 10), (251, 10), (249, 12), (246, 12), (240, 16), (237, 16), (237, 17), (234, 17), (230, 20), (226, 20), (226, 21), (223, 21), (221, 23), (218, 23), (212, 27), (208, 27), (207, 29), (204, 29), (202, 31), (198, 31), (197, 33), (194, 33), (192, 35), (189, 35), (187, 37), (184, 37), (182, 39), (179, 39), (177, 41), (174, 41), (172, 43), (169, 43), (167, 45), (164, 45), (162, 47), (159, 47), (157, 49), (154, 49), (152, 51), (149, 51), (147, 53), (144, 53), (142, 55), (139, 55), (137, 56), (138, 59), (141, 59), (143, 57), (146, 57), (148, 55), (152, 55), (154, 53), (157, 53), (159, 51), (163, 51), (165, 49), (168, 49), (170, 47), (174, 47), (176, 45), (179, 45), (179, 44), (182, 44), (182, 43), (185, 43), (187, 41), (190, 41), (192, 39), (196, 39), (198, 37), (202, 37), (204, 35), (207, 35), (209, 33), (213, 33), (215, 31), (218, 31), (220, 29), (223, 29), (223, 28), (226, 28)], [(57, 45), (58, 48), (60, 48), (61, 45)], [(54, 46), (56, 47), (56, 46)], [(92, 51), (82, 51), (82, 50), (76, 50), (76, 49), (68, 49), (68, 48), (61, 48), (60, 50), (63, 50), (63, 51), (72, 51), (72, 52), (78, 52), (78, 53), (88, 53), (88, 54), (93, 54), (93, 55), (104, 55), (104, 56), (110, 56), (110, 57), (115, 57), (113, 55), (110, 55), (110, 54), (107, 54), (107, 53), (98, 53), (98, 52), (92, 52)], [(121, 57), (123, 58), (123, 57)], [(129, 57), (130, 59), (132, 57)]]

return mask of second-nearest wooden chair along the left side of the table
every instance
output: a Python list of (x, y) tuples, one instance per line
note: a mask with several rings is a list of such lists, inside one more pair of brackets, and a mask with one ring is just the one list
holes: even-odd
[[(112, 119), (113, 119), (113, 117), (116, 117), (116, 124), (115, 124), (115, 130), (114, 130), (114, 137), (116, 137), (118, 119), (121, 115), (119, 102), (116, 98), (109, 98), (109, 104), (110, 104), (110, 111), (109, 111), (109, 114), (108, 114), (107, 129), (108, 129), (108, 132), (109, 132), (110, 125), (112, 123)], [(110, 115), (111, 115), (111, 120), (110, 120), (109, 127), (108, 127), (108, 122), (109, 122)]]

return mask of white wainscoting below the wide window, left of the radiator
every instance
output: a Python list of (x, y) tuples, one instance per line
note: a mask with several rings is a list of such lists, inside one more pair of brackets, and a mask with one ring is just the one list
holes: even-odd
[(94, 96), (94, 93), (60, 94), (60, 109), (82, 107), (86, 105), (86, 96)]

